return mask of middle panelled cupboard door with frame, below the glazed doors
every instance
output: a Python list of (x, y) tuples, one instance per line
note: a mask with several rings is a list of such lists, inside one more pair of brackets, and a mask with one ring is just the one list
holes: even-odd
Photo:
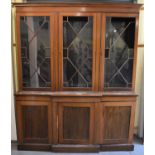
[(59, 143), (92, 144), (93, 103), (59, 103)]

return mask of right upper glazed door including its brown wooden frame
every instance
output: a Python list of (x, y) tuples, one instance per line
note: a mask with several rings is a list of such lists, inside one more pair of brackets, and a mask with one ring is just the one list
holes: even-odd
[(134, 14), (107, 13), (102, 16), (103, 54), (100, 72), (101, 87), (105, 90), (134, 88), (137, 20)]

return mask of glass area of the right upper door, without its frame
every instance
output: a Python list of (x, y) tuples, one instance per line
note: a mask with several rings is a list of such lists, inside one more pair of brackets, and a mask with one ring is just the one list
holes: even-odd
[(132, 86), (135, 18), (106, 18), (105, 88)]

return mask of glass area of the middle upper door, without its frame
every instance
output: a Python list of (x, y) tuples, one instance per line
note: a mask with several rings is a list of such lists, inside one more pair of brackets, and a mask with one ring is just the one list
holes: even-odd
[(92, 17), (63, 18), (63, 86), (92, 87)]

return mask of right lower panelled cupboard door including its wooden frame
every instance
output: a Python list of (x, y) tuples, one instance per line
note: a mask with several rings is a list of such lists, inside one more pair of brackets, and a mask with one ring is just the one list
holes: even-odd
[(104, 143), (128, 143), (132, 137), (133, 108), (128, 102), (105, 103)]

